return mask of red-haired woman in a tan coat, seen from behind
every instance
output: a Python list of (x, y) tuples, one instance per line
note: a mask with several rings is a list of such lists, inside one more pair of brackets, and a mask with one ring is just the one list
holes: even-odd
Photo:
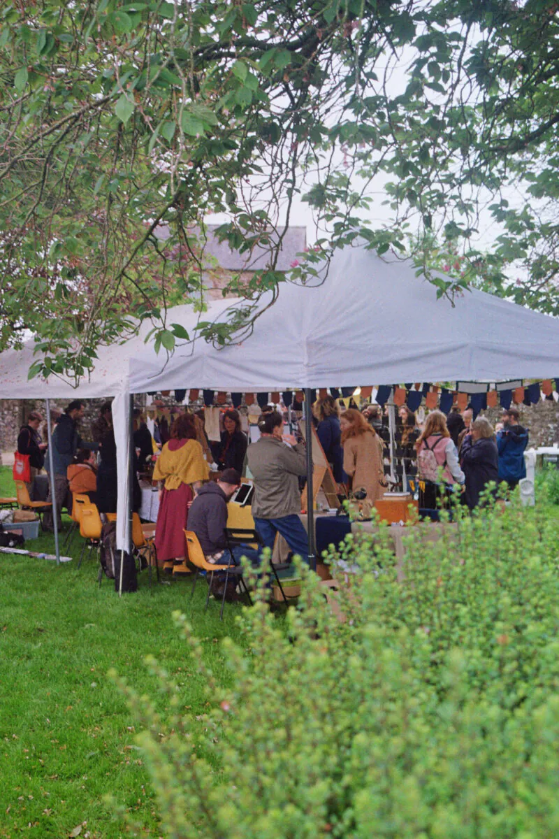
[(344, 472), (352, 478), (352, 488), (365, 489), (375, 503), (385, 492), (383, 445), (363, 414), (350, 408), (339, 418), (344, 446)]

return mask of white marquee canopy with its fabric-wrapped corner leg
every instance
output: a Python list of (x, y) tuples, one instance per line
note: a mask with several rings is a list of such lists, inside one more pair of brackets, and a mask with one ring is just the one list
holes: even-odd
[[(210, 304), (202, 320), (223, 320), (241, 300)], [(142, 336), (101, 348), (91, 380), (74, 390), (60, 380), (27, 380), (32, 347), (0, 355), (0, 399), (116, 397), (119, 487), (126, 487), (128, 394), (158, 389), (233, 392), (349, 387), (410, 381), (495, 382), (559, 375), (559, 320), (480, 291), (454, 305), (411, 263), (365, 248), (334, 255), (328, 276), (306, 287), (280, 286), (277, 302), (241, 344), (216, 349), (204, 341), (177, 347), (168, 359)], [(200, 315), (168, 311), (193, 335)], [(144, 334), (147, 326), (142, 327)], [(195, 332), (194, 332), (195, 334)], [(119, 520), (127, 521), (123, 493)], [(119, 546), (125, 544), (124, 524)]]

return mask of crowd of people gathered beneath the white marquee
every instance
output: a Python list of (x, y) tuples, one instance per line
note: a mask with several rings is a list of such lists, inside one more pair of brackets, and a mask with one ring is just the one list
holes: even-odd
[[(72, 493), (80, 492), (96, 503), (100, 513), (115, 513), (118, 480), (111, 403), (101, 405), (89, 442), (80, 436), (83, 413), (84, 404), (75, 400), (56, 418), (54, 473), (47, 500), (54, 493), (60, 515), (62, 508), (71, 509)], [(380, 406), (340, 410), (337, 400), (326, 395), (313, 405), (313, 420), (339, 492), (359, 490), (360, 497), (370, 503), (382, 498), (390, 486), (389, 449), (395, 431)], [(293, 553), (308, 560), (308, 535), (299, 518), (307, 474), (305, 443), (284, 433), (281, 412), (271, 406), (262, 410), (259, 438), (250, 446), (235, 409), (222, 412), (220, 439), (211, 442), (204, 421), (187, 409), (168, 430), (163, 429), (167, 437), (163, 442), (153, 439), (140, 409), (134, 411), (133, 421), (135, 510), (141, 503), (137, 474), (158, 454), (153, 481), (159, 490), (155, 544), (160, 564), (184, 563), (188, 556), (184, 529), (194, 530), (210, 561), (220, 560), (225, 550), (226, 504), (246, 474), (253, 482), (252, 514), (261, 543), (272, 549), (280, 534)], [(46, 443), (39, 433), (42, 422), (37, 412), (29, 414), (18, 437), (18, 451), (29, 456), (30, 490), (45, 463)], [(474, 419), (470, 406), (463, 411), (453, 408), (448, 416), (432, 410), (420, 424), (416, 414), (402, 405), (396, 424), (404, 488), (417, 492), (420, 508), (437, 508), (458, 485), (463, 503), (474, 509), (490, 482), (505, 481), (514, 488), (525, 477), (523, 455), (529, 435), (515, 408), (503, 412), (495, 429), (484, 416)], [(210, 480), (210, 475), (217, 480)], [(52, 514), (50, 519), (45, 515), (44, 524), (52, 528)], [(257, 562), (253, 550), (244, 548), (243, 553)]]

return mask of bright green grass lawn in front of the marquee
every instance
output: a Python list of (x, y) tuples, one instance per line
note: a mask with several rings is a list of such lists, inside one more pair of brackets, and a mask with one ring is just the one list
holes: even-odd
[[(7, 467), (0, 467), (0, 494), (13, 494)], [(112, 581), (99, 589), (94, 560), (77, 570), (80, 545), (75, 539), (75, 561), (59, 567), (0, 554), (0, 837), (62, 839), (83, 822), (80, 836), (125, 836), (107, 793), (135, 811), (148, 836), (160, 836), (131, 717), (107, 671), (114, 667), (140, 692), (157, 696), (143, 664), (153, 654), (199, 714), (202, 680), (174, 633), (171, 612), (187, 614), (220, 680), (220, 638), (238, 635), (238, 607), (225, 608), (223, 623), (216, 602), (204, 614), (204, 585), (192, 604), (190, 581), (150, 591), (148, 572), (139, 576), (137, 593), (122, 599)], [(42, 534), (26, 547), (54, 552), (54, 537)]]

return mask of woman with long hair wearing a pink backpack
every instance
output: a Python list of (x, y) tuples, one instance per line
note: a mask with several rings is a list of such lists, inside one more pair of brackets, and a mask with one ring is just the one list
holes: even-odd
[[(446, 492), (453, 483), (461, 486), (464, 483), (464, 473), (458, 463), (458, 450), (442, 411), (431, 411), (428, 414), (416, 449), (418, 477), (426, 484), (419, 506), (435, 509), (437, 498), (442, 492)], [(434, 472), (440, 474), (440, 481)]]

